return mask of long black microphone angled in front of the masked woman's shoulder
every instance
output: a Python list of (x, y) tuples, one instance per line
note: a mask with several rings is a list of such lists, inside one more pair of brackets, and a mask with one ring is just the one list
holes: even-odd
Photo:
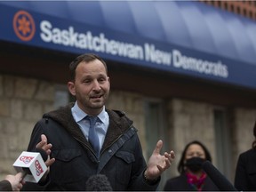
[(203, 170), (220, 191), (237, 191), (231, 182), (210, 161), (203, 163)]

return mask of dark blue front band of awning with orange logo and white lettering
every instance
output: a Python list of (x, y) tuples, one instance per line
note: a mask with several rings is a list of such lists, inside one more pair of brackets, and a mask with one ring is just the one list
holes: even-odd
[(133, 29), (118, 31), (108, 26), (0, 4), (0, 18), (3, 18), (0, 20), (0, 40), (4, 42), (76, 54), (94, 52), (120, 64), (256, 89), (253, 63), (212, 54), (209, 50), (204, 52), (202, 47), (192, 49), (159, 41), (137, 34)]

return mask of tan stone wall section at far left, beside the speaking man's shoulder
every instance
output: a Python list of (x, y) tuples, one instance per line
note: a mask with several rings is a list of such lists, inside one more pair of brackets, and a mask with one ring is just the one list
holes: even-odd
[(0, 76), (0, 179), (15, 173), (12, 164), (28, 147), (36, 121), (52, 110), (53, 84), (15, 76)]

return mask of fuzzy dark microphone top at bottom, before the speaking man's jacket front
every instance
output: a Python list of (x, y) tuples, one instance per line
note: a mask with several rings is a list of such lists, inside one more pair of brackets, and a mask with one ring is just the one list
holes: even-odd
[(113, 191), (108, 178), (104, 174), (96, 174), (86, 181), (86, 191)]

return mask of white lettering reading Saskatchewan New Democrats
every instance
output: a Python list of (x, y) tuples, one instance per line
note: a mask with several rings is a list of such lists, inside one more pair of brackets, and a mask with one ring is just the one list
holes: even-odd
[(49, 20), (40, 23), (40, 37), (45, 43), (76, 47), (93, 52), (102, 52), (132, 60), (145, 60), (158, 65), (172, 66), (208, 76), (228, 77), (228, 66), (220, 60), (209, 61), (189, 57), (178, 49), (171, 52), (156, 49), (155, 44), (132, 44), (109, 39), (104, 33), (98, 36), (92, 31), (77, 32), (72, 26), (67, 29), (54, 27)]

